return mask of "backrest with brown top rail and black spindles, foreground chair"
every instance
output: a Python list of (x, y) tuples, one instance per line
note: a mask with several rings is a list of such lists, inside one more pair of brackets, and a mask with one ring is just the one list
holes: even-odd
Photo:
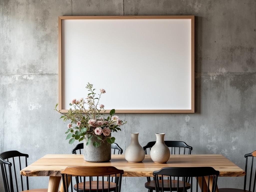
[[(106, 188), (104, 185), (104, 182), (102, 182), (102, 192), (103, 191), (110, 191), (110, 176), (115, 175), (116, 178), (118, 178), (118, 181), (116, 182), (116, 189), (115, 192), (121, 191), (121, 184), (122, 184), (122, 174), (124, 173), (123, 170), (117, 169), (112, 166), (104, 167), (104, 166), (78, 166), (78, 167), (67, 167), (64, 170), (61, 170), (61, 176), (63, 182), (63, 189), (64, 192), (69, 192), (68, 190), (68, 177), (70, 177), (71, 181), (71, 192), (73, 192), (73, 184), (72, 184), (72, 177), (76, 177), (76, 186), (78, 187), (78, 177), (83, 177), (83, 192), (86, 190), (86, 177), (89, 177), (89, 191), (91, 192), (91, 186), (92, 186), (92, 177), (97, 177), (97, 192), (99, 191), (99, 177), (102, 177), (102, 181), (104, 181), (104, 176), (108, 177), (108, 187)], [(87, 189), (88, 191), (88, 189)]]

